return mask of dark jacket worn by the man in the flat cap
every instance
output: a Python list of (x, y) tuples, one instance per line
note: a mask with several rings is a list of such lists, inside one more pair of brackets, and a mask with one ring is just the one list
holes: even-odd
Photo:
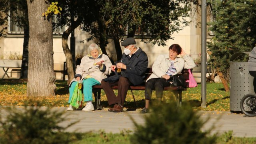
[(126, 70), (122, 69), (121, 76), (128, 78), (133, 85), (144, 82), (145, 72), (148, 68), (148, 56), (141, 48), (131, 57), (123, 54), (122, 63), (126, 65)]

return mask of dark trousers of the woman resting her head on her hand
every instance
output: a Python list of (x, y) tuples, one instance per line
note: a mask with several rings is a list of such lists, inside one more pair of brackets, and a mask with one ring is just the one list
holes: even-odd
[(170, 86), (170, 82), (165, 78), (151, 78), (146, 82), (145, 99), (151, 100), (153, 90), (156, 90), (156, 98), (162, 98), (165, 86)]

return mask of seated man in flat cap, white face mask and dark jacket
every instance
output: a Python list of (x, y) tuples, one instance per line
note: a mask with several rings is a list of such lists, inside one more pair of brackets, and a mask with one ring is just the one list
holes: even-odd
[[(111, 66), (111, 70), (116, 73), (121, 68), (120, 76), (103, 79), (102, 88), (108, 98), (108, 104), (113, 106), (109, 108), (110, 112), (122, 112), (126, 94), (130, 85), (139, 85), (144, 82), (145, 72), (148, 68), (148, 56), (139, 47), (136, 46), (134, 38), (127, 38), (121, 45), (124, 46), (122, 59)], [(111, 86), (118, 86), (118, 95), (114, 94)]]

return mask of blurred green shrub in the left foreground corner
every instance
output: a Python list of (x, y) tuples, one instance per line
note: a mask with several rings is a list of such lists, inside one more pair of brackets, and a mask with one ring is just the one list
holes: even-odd
[[(81, 134), (66, 133), (64, 112), (50, 108), (6, 107), (0, 115), (0, 144), (68, 144), (78, 140)], [(3, 115), (6, 113), (6, 116)]]

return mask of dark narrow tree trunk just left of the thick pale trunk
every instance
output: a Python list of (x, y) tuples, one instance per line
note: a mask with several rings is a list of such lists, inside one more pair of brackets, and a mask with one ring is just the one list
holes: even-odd
[(24, 40), (23, 40), (23, 53), (22, 64), (20, 70), (20, 78), (28, 78), (28, 42), (29, 42), (29, 26), (24, 25)]

